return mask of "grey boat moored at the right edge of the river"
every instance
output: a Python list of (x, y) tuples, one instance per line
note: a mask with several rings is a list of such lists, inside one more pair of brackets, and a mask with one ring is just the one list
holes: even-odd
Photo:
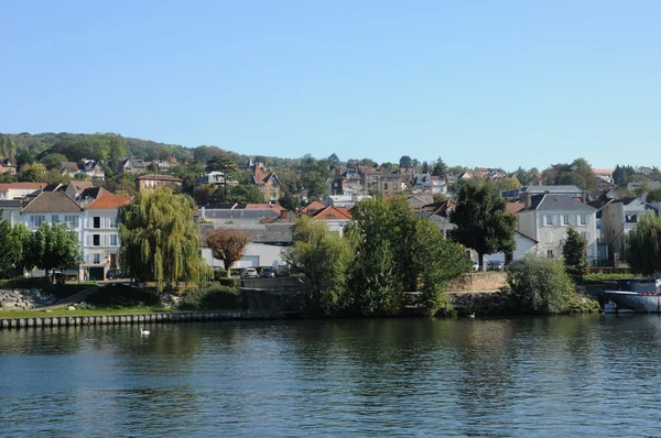
[(606, 314), (660, 314), (661, 278), (624, 278), (617, 289), (599, 292), (599, 304)]

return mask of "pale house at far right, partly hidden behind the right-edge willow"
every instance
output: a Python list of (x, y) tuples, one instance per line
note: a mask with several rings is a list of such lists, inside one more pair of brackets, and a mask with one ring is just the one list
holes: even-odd
[(646, 202), (641, 197), (613, 200), (602, 208), (600, 238), (614, 259), (624, 259), (625, 239), (646, 211)]

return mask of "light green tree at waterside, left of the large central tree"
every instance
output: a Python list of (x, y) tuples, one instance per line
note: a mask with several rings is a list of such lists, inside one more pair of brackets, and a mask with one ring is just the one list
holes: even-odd
[(284, 260), (293, 272), (304, 275), (307, 306), (316, 316), (340, 311), (347, 305), (347, 271), (353, 259), (348, 242), (306, 216), (296, 220), (292, 237), (294, 244)]

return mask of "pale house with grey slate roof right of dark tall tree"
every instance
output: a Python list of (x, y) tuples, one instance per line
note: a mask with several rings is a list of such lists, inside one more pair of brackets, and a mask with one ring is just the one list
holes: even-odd
[(538, 241), (538, 255), (562, 256), (567, 230), (574, 228), (587, 241), (587, 256), (597, 258), (596, 211), (582, 200), (564, 194), (527, 194), (517, 213), (518, 231)]

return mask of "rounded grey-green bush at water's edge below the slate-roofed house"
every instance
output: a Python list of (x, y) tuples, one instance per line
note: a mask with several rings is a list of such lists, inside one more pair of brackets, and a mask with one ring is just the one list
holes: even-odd
[(560, 261), (527, 256), (507, 274), (512, 309), (531, 314), (561, 314), (576, 299), (574, 283)]

